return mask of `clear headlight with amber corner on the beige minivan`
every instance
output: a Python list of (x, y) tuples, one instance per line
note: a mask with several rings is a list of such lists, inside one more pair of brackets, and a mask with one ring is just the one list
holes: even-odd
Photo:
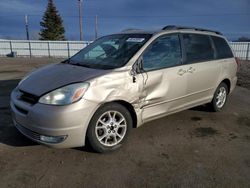
[(39, 99), (39, 103), (66, 105), (80, 100), (87, 91), (89, 83), (76, 83), (56, 89)]

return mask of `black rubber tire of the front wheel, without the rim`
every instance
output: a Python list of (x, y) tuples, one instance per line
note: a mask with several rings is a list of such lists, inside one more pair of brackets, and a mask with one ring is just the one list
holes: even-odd
[[(126, 129), (126, 133), (125, 133), (124, 138), (117, 145), (104, 146), (98, 141), (98, 139), (96, 137), (95, 127), (96, 127), (96, 123), (97, 123), (98, 119), (100, 118), (100, 116), (103, 113), (105, 113), (106, 111), (110, 111), (110, 110), (118, 111), (119, 113), (121, 113), (124, 116), (124, 118), (126, 120), (126, 124), (127, 124), (127, 129)], [(122, 106), (118, 103), (104, 104), (95, 112), (95, 114), (93, 115), (93, 117), (90, 120), (88, 129), (87, 129), (88, 142), (96, 152), (106, 153), (106, 152), (114, 151), (114, 150), (118, 149), (119, 147), (121, 147), (121, 145), (127, 139), (127, 136), (132, 128), (132, 124), (133, 124), (132, 117), (131, 117), (129, 111), (124, 106)]]

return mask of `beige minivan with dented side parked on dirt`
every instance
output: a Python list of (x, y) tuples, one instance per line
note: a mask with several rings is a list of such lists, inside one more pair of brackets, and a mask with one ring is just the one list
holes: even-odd
[[(166, 26), (104, 36), (11, 93), (16, 128), (57, 148), (119, 148), (133, 127), (188, 108), (221, 110), (239, 62), (216, 31)], [(156, 125), (155, 125), (156, 126)]]

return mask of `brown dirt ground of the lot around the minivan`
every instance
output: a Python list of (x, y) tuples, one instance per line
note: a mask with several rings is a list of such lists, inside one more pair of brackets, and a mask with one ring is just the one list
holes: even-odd
[[(250, 90), (242, 87), (222, 112), (199, 107), (153, 121), (110, 154), (26, 139), (12, 125), (9, 93), (27, 71), (57, 61), (0, 58), (0, 187), (250, 187)], [(249, 87), (249, 72), (244, 80)]]

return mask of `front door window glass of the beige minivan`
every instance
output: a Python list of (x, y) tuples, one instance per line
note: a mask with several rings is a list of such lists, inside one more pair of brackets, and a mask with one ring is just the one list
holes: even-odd
[(178, 34), (156, 39), (143, 53), (145, 71), (173, 67), (181, 64), (181, 47)]

